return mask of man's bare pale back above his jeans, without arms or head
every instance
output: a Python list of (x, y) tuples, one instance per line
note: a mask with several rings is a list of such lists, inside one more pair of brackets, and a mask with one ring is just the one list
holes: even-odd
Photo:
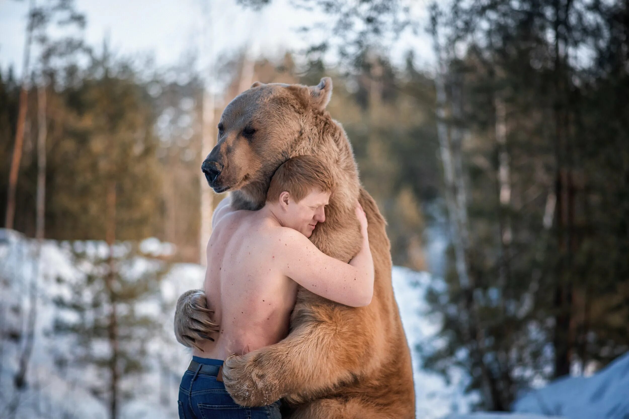
[[(220, 331), (194, 355), (225, 359), (274, 344), (288, 334), (297, 283), (278, 269), (273, 248), (286, 228), (262, 211), (232, 211), (208, 243), (204, 290)], [(281, 240), (281, 238), (279, 239)]]

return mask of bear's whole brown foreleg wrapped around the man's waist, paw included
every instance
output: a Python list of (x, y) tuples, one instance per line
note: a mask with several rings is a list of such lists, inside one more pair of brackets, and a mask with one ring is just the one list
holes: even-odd
[[(320, 303), (325, 300), (304, 289), (300, 292)], [(369, 367), (370, 343), (376, 337), (374, 329), (364, 324), (367, 307), (327, 302), (317, 305), (318, 316), (306, 304), (296, 305), (295, 310), (293, 317), (301, 319), (285, 339), (225, 359), (225, 388), (238, 404), (263, 406), (287, 396), (291, 403), (303, 403), (353, 381)], [(313, 321), (315, 317), (318, 321)]]

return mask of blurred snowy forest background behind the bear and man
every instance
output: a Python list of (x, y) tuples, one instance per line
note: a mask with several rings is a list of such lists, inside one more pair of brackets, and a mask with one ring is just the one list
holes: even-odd
[[(387, 221), (417, 417), (629, 417), (629, 2), (278, 0), (325, 24), (255, 50), (209, 17), (287, 25), (274, 0), (199, 0), (169, 65), (88, 41), (82, 3), (0, 3), (0, 418), (177, 415), (221, 112), (325, 76)], [(394, 57), (409, 39), (431, 58)]]

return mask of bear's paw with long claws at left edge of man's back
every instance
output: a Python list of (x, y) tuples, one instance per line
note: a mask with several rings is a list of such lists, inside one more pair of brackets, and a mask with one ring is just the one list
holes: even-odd
[(189, 290), (177, 300), (175, 310), (175, 336), (177, 342), (187, 347), (196, 347), (203, 351), (199, 342), (209, 339), (213, 332), (218, 332), (218, 324), (214, 323), (208, 309), (205, 293), (202, 290)]

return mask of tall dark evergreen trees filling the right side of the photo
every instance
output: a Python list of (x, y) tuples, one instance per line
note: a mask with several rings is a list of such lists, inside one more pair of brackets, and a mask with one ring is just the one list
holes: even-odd
[(462, 366), (488, 410), (629, 349), (628, 17), (620, 3), (473, 1), (440, 21), (451, 107), (462, 90), (448, 123), (467, 132), (472, 285), (453, 268), (431, 294), (445, 344), (425, 366)]

